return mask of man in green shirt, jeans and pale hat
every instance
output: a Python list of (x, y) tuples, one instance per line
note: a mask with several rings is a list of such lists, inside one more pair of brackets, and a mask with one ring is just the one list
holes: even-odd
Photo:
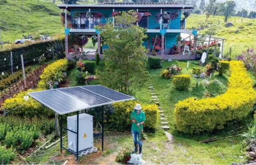
[[(137, 104), (134, 107), (134, 111), (131, 114), (131, 121), (132, 121), (132, 135), (133, 135), (133, 139), (134, 139), (134, 153), (138, 152), (138, 147), (137, 144), (139, 143), (139, 153), (141, 154), (142, 152), (142, 141), (140, 141), (140, 131), (143, 131), (143, 124), (146, 121), (146, 116), (145, 113), (143, 111), (141, 111), (142, 108), (140, 106), (140, 104)], [(137, 136), (138, 136), (138, 140), (137, 140)]]

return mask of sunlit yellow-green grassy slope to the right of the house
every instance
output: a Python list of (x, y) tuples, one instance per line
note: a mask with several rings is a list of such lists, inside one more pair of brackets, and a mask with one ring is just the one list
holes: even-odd
[[(241, 18), (232, 17), (229, 19), (229, 22), (232, 22), (234, 26), (226, 28), (223, 18), (223, 16), (215, 16), (214, 18), (210, 16), (206, 25), (210, 29), (212, 24), (212, 30), (216, 33), (214, 36), (227, 39), (224, 43), (224, 54), (228, 54), (230, 47), (232, 47), (232, 57), (234, 58), (248, 47), (256, 47), (256, 19), (247, 20), (244, 18), (242, 22)], [(205, 15), (191, 14), (187, 22), (187, 27), (199, 28), (199, 23), (204, 24), (205, 20)], [(219, 25), (218, 21), (220, 21)], [(238, 29), (238, 27), (243, 29)], [(206, 33), (209, 29), (202, 30), (200, 33)], [(239, 30), (239, 32), (235, 33), (236, 30)]]

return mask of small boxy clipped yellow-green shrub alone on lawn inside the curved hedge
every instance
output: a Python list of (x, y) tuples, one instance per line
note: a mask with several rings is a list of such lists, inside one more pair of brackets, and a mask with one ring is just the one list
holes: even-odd
[(178, 90), (186, 90), (190, 85), (190, 75), (176, 75), (172, 79), (174, 88)]

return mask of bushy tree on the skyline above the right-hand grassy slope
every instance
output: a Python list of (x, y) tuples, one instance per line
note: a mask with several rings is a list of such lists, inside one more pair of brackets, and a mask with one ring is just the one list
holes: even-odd
[(232, 16), (235, 12), (236, 3), (233, 0), (222, 2), (219, 4), (218, 12), (224, 16), (225, 22)]

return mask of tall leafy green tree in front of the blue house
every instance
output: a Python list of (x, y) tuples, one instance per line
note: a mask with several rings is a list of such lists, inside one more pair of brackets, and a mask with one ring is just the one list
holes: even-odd
[(136, 26), (137, 14), (134, 11), (122, 12), (100, 30), (104, 44), (109, 47), (104, 51), (105, 70), (97, 71), (100, 83), (124, 93), (131, 91), (131, 86), (140, 87), (147, 78), (147, 51), (142, 46), (146, 38), (144, 28)]

